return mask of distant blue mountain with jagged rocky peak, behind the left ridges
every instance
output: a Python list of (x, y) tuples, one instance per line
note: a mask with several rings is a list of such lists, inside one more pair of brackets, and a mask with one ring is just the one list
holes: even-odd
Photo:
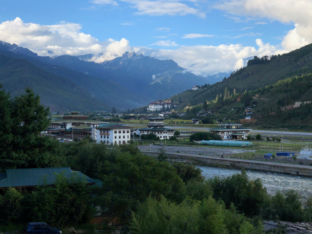
[[(29, 58), (79, 71), (90, 76), (118, 83), (125, 89), (146, 97), (145, 105), (150, 99), (168, 98), (182, 92), (193, 85), (209, 83), (206, 78), (195, 76), (178, 66), (173, 60), (159, 60), (142, 54), (124, 53), (101, 64), (85, 61), (90, 55), (63, 55), (55, 58), (37, 56), (27, 48), (1, 42), (0, 46), (15, 54), (23, 54)], [(136, 101), (136, 100), (134, 100)]]

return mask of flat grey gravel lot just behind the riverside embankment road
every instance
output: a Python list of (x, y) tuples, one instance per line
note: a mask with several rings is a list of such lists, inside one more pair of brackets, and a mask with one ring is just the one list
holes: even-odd
[(139, 145), (138, 148), (140, 150), (149, 150), (158, 152), (160, 149), (165, 149), (167, 152), (180, 152), (184, 154), (238, 154), (245, 152), (252, 152), (253, 150), (246, 149), (227, 149), (227, 148), (214, 148), (214, 147), (192, 147), (192, 146), (159, 146), (159, 145)]

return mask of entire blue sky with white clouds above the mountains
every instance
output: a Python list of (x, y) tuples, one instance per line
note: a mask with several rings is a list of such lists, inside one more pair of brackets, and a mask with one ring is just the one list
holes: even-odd
[[(97, 62), (133, 50), (173, 59), (204, 76), (232, 71), (249, 56), (310, 43), (303, 31), (310, 27), (311, 1), (294, 7), (295, 2), (302, 1), (5, 1), (0, 6), (0, 40), (39, 55), (90, 52)], [(302, 11), (308, 12), (306, 17), (300, 16)], [(35, 24), (37, 29), (31, 30)], [(53, 32), (53, 38), (47, 32)], [(80, 33), (90, 37), (77, 39)]]

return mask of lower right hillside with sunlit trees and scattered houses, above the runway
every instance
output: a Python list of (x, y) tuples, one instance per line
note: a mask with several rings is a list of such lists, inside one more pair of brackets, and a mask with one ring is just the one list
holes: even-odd
[[(263, 129), (288, 129), (311, 131), (312, 127), (312, 73), (279, 80), (264, 88), (228, 95), (209, 101), (207, 104), (190, 106), (183, 111), (195, 117), (199, 110), (212, 110), (208, 120), (232, 119), (244, 126)], [(296, 102), (300, 106), (294, 106)], [(204, 105), (205, 104), (205, 105)], [(245, 108), (254, 108), (251, 120), (244, 119)]]

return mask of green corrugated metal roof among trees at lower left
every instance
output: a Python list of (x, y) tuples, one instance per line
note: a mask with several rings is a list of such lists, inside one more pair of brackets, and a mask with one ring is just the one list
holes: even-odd
[(6, 173), (1, 173), (0, 175), (0, 188), (37, 186), (43, 185), (43, 181), (51, 185), (55, 182), (55, 173), (64, 173), (66, 178), (75, 176), (76, 178), (83, 179), (87, 183), (95, 183), (94, 180), (80, 172), (73, 173), (70, 167), (7, 169)]

